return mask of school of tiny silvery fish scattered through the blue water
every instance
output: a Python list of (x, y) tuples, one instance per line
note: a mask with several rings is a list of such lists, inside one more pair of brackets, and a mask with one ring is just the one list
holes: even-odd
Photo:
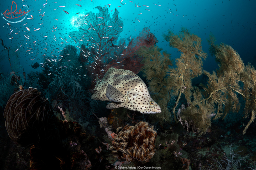
[[(81, 1), (81, 0), (80, 0)], [(128, 3), (134, 3), (133, 1), (127, 1)], [(127, 2), (123, 2), (123, 0), (121, 0), (120, 1), (120, 3), (122, 4), (122, 5), (126, 5), (127, 4)], [(63, 50), (63, 48), (65, 48), (64, 46), (61, 46), (62, 44), (64, 45), (65, 43), (73, 43), (73, 42), (75, 42), (75, 43), (79, 43), (79, 44), (81, 44), (81, 42), (79, 42), (79, 41), (83, 41), (83, 39), (84, 39), (84, 36), (81, 38), (81, 39), (78, 39), (78, 42), (76, 42), (76, 41), (71, 41), (71, 40), (67, 40), (66, 38), (65, 38), (65, 41), (66, 42), (58, 42), (58, 39), (56, 38), (56, 36), (58, 36), (61, 40), (64, 40), (63, 38), (61, 38), (58, 34), (54, 34), (53, 35), (53, 37), (54, 38), (52, 38), (51, 40), (49, 39), (49, 33), (50, 32), (55, 32), (55, 31), (57, 31), (57, 29), (58, 29), (58, 27), (56, 27), (55, 25), (58, 25), (58, 24), (62, 24), (62, 23), (56, 23), (56, 22), (53, 22), (53, 21), (49, 21), (50, 22), (50, 25), (53, 25), (52, 26), (52, 28), (50, 27), (50, 30), (48, 29), (47, 30), (47, 27), (45, 27), (44, 26), (44, 22), (45, 22), (45, 17), (46, 17), (46, 15), (47, 15), (47, 10), (45, 10), (44, 8), (47, 8), (47, 7), (50, 7), (52, 4), (57, 4), (58, 2), (47, 2), (46, 1), (46, 3), (44, 3), (44, 4), (42, 4), (42, 8), (41, 9), (39, 9), (38, 10), (38, 13), (39, 13), (39, 16), (38, 16), (38, 14), (36, 15), (37, 16), (37, 18), (39, 17), (39, 19), (40, 20), (42, 20), (42, 23), (39, 23), (39, 25), (35, 28), (35, 26), (34, 25), (32, 25), (33, 23), (31, 23), (31, 22), (29, 22), (30, 23), (30, 25), (28, 25), (27, 26), (27, 24), (28, 24), (28, 22), (27, 23), (25, 23), (25, 24), (23, 24), (23, 26), (24, 25), (26, 25), (26, 27), (25, 27), (25, 29), (26, 29), (26, 31), (24, 30), (22, 33), (21, 33), (21, 31), (18, 31), (18, 32), (15, 32), (15, 35), (18, 35), (18, 36), (22, 36), (21, 34), (23, 34), (23, 36), (26, 38), (26, 39), (28, 39), (28, 40), (20, 40), (20, 44), (22, 44), (23, 45), (23, 49), (25, 48), (25, 46), (29, 46), (29, 47), (31, 47), (31, 48), (29, 48), (29, 47), (27, 47), (27, 49), (28, 50), (25, 50), (25, 52), (28, 54), (28, 55), (31, 55), (32, 54), (32, 56), (30, 56), (30, 60), (34, 60), (34, 59), (37, 59), (37, 60), (40, 60), (40, 55), (42, 55), (45, 59), (46, 59), (46, 57), (45, 56), (52, 56), (52, 61), (55, 61), (55, 62), (57, 62), (57, 59), (54, 59), (54, 58), (56, 58), (56, 57), (58, 57), (58, 52), (60, 52), (61, 51), (61, 48), (62, 48), (62, 50)], [(82, 2), (81, 2), (82, 3)], [(58, 3), (59, 4), (59, 3)], [(161, 5), (159, 5), (159, 4), (156, 4), (156, 3), (153, 3), (154, 5), (156, 5), (156, 6), (161, 6)], [(82, 5), (81, 4), (75, 4), (76, 6), (78, 6), (78, 7), (82, 7)], [(175, 5), (175, 4), (174, 4)], [(24, 5), (23, 5), (24, 6)], [(58, 10), (58, 8), (62, 8), (62, 9), (64, 9), (64, 10), (62, 10), (65, 14), (69, 14), (69, 10), (67, 10), (66, 8), (67, 8), (67, 6), (66, 5), (54, 5), (54, 6), (56, 6), (56, 8), (55, 9), (53, 9), (53, 11), (55, 11), (55, 10)], [(110, 8), (110, 6), (112, 6), (112, 4), (110, 3), (110, 4), (106, 4), (104, 7), (109, 7)], [(176, 6), (176, 5), (175, 5)], [(118, 7), (121, 7), (121, 6), (118, 6)], [(140, 7), (146, 7), (146, 8), (148, 8), (149, 7), (149, 5), (141, 5), (141, 6), (139, 6), (139, 3), (135, 3), (135, 7), (136, 8), (140, 8)], [(34, 8), (33, 8), (34, 9)], [(33, 11), (33, 9), (32, 9), (32, 11), (31, 11), (31, 13), (32, 12), (35, 12), (35, 11)], [(169, 10), (170, 10), (170, 8), (168, 8)], [(43, 12), (43, 10), (45, 10), (44, 12)], [(151, 12), (153, 12), (152, 10), (150, 10), (150, 9), (145, 9), (145, 10), (147, 10), (147, 11), (151, 11)], [(85, 11), (87, 11), (87, 10), (85, 10)], [(110, 11), (110, 13), (112, 12), (113, 10), (111, 10)], [(177, 11), (177, 10), (176, 10)], [(41, 13), (42, 12), (42, 13)], [(172, 12), (172, 11), (171, 11)], [(77, 14), (79, 14), (80, 12), (78, 12), (78, 13), (75, 13), (74, 15), (77, 15)], [(72, 13), (73, 14), (73, 13)], [(133, 13), (134, 14), (134, 13)], [(88, 16), (89, 14), (86, 14), (86, 15), (84, 15), (84, 17), (86, 17), (86, 16)], [(143, 13), (142, 12), (140, 12), (139, 14), (137, 14), (137, 15), (143, 15)], [(186, 15), (185, 15), (186, 16)], [(184, 15), (183, 15), (183, 17), (184, 17)], [(104, 17), (103, 16), (97, 16), (97, 18), (99, 18), (99, 19), (104, 19)], [(27, 20), (35, 20), (35, 17), (31, 14), (30, 15), (30, 17), (28, 17), (27, 18)], [(59, 21), (59, 19), (58, 18), (54, 18), (54, 20), (55, 21)], [(138, 21), (138, 22), (141, 22), (140, 20), (139, 20), (139, 18), (138, 17), (135, 17), (135, 19), (134, 19), (134, 21)], [(64, 20), (63, 20), (64, 21)], [(147, 23), (147, 21), (146, 21), (146, 23)], [(87, 23), (85, 23), (85, 24), (87, 24)], [(104, 24), (104, 23), (101, 23), (101, 24)], [(98, 25), (101, 25), (101, 24), (98, 24)], [(13, 34), (13, 32), (14, 32), (14, 29), (11, 29), (11, 23), (7, 23), (7, 25), (9, 26), (9, 28), (10, 28), (10, 33), (9, 33), (9, 35), (10, 36), (12, 36)], [(5, 26), (5, 25), (4, 25)], [(4, 27), (3, 26), (3, 27)], [(106, 25), (107, 27), (112, 27), (111, 25)], [(49, 28), (49, 27), (48, 27)], [(106, 27), (105, 27), (106, 28)], [(104, 29), (105, 29), (104, 28)], [(119, 28), (121, 28), (121, 29), (123, 29), (121, 26), (119, 26)], [(31, 29), (33, 29), (34, 31), (41, 31), (42, 29), (42, 31), (41, 31), (41, 37), (42, 38), (45, 38), (45, 39), (43, 39), (43, 41), (45, 41), (45, 44), (46, 44), (46, 46), (48, 46), (48, 44), (50, 44), (51, 45), (51, 50), (50, 51), (47, 51), (47, 53), (46, 52), (44, 52), (43, 53), (43, 50), (45, 49), (45, 50), (47, 50), (47, 48), (40, 48), (40, 46), (39, 45), (37, 45), (37, 43), (36, 42), (40, 42), (39, 41), (39, 39), (40, 39), (40, 37), (37, 37), (37, 41), (34, 41), (33, 39), (35, 39), (35, 37), (31, 34), (32, 32), (30, 32), (30, 30)], [(65, 29), (65, 27), (62, 27), (62, 28), (59, 28), (59, 30), (62, 30), (62, 29)], [(16, 30), (17, 30), (17, 28), (16, 28)], [(66, 28), (66, 30), (67, 30), (67, 28)], [(93, 28), (93, 26), (92, 26), (92, 24), (90, 23), (90, 28), (87, 28), (87, 30), (95, 30), (94, 28)], [(136, 28), (134, 28), (134, 31), (136, 31)], [(56, 36), (55, 36), (56, 35)], [(60, 35), (67, 35), (67, 34), (64, 34), (64, 33), (61, 33)], [(32, 36), (32, 37), (31, 37)], [(52, 36), (51, 36), (52, 37)], [(66, 36), (65, 36), (66, 37)], [(70, 35), (68, 35), (68, 37), (71, 39), (71, 37), (70, 37)], [(14, 37), (10, 37), (9, 39), (13, 39)], [(17, 38), (17, 37), (16, 37)], [(20, 37), (21, 38), (21, 37)], [(110, 39), (109, 37), (103, 37), (103, 38), (107, 38), (107, 39)], [(93, 37), (90, 37), (90, 39), (92, 39), (93, 40)], [(31, 42), (29, 42), (30, 40), (33, 40), (33, 43), (31, 43)], [(53, 41), (54, 42), (53, 42)], [(90, 41), (90, 40), (87, 40), (86, 39), (86, 41)], [(24, 44), (25, 43), (25, 44)], [(47, 44), (48, 43), (48, 44)], [(60, 44), (60, 45), (58, 45), (58, 43)], [(91, 46), (91, 48), (95, 48), (95, 45), (94, 44), (92, 44), (93, 46)], [(98, 44), (97, 44), (98, 45)], [(78, 48), (80, 48), (79, 47), (79, 45), (77, 46)], [(125, 47), (126, 48), (126, 47)], [(18, 50), (21, 52), (21, 50), (23, 50), (23, 49), (21, 49), (21, 48), (17, 48), (16, 49), (16, 51), (15, 52), (17, 52)], [(43, 50), (42, 50), (43, 49)], [(56, 53), (56, 51), (55, 50), (58, 50), (57, 51), (57, 53)], [(97, 49), (97, 48), (96, 48)], [(83, 50), (83, 49), (80, 49), (80, 50)], [(83, 51), (84, 52), (84, 51)], [(88, 55), (84, 55), (85, 57), (88, 57), (89, 55), (90, 55), (90, 53), (88, 53), (87, 52), (87, 54)], [(28, 57), (29, 58), (29, 57)], [(31, 58), (34, 58), (34, 59), (31, 59)], [(51, 61), (51, 60), (49, 60), (49, 59), (46, 59), (47, 61)], [(95, 57), (95, 60), (97, 60), (97, 57)], [(42, 63), (41, 65), (42, 65), (42, 67), (45, 65), (45, 64), (47, 64), (47, 63)], [(93, 67), (94, 68), (94, 67)]]

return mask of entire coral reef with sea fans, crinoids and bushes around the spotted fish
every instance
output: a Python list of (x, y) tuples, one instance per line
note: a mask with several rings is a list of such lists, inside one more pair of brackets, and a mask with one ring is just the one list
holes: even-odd
[[(75, 22), (79, 32), (70, 36), (73, 41), (83, 42), (78, 45), (79, 51), (75, 46), (66, 46), (60, 57), (42, 61), (43, 71), (28, 74), (27, 82), (25, 72), (22, 75), (12, 68), (14, 61), (10, 62), (11, 73), (0, 73), (0, 110), (7, 96), (11, 96), (7, 92), (17, 92), (10, 97), (4, 111), (8, 133), (0, 124), (1, 168), (254, 167), (256, 71), (253, 66), (245, 65), (231, 46), (214, 44), (211, 34), (207, 40), (209, 51), (219, 68), (208, 73), (202, 67), (206, 53), (201, 39), (181, 28), (178, 34), (171, 31), (164, 34), (170, 47), (177, 48), (181, 55), (173, 67), (170, 54), (156, 46), (156, 37), (148, 28), (137, 37), (130, 37), (128, 45), (124, 38), (117, 42), (123, 29), (117, 10), (110, 18), (107, 8), (98, 9), (98, 14), (87, 13), (88, 17), (79, 17)], [(6, 47), (3, 41), (2, 46)], [(6, 47), (4, 51), (10, 61), (12, 49)], [(134, 73), (142, 71), (149, 93), (162, 112), (145, 115), (125, 108), (103, 110), (106, 102), (91, 100), (91, 80), (96, 75), (102, 78), (110, 67)], [(86, 74), (92, 79), (83, 76)], [(202, 74), (202, 84), (193, 87), (193, 78)], [(38, 90), (23, 90), (25, 83)], [(233, 114), (239, 110), (239, 114)], [(239, 119), (242, 112), (244, 118), (250, 116), (250, 119)], [(224, 120), (212, 124), (212, 117)], [(237, 120), (235, 125), (225, 121), (233, 117)], [(2, 124), (4, 121), (0, 118)], [(232, 146), (237, 153), (231, 150), (230, 143), (235, 143)]]

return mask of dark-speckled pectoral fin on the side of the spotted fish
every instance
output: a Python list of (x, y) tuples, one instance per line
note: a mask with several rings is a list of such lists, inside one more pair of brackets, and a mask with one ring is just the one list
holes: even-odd
[(125, 95), (123, 95), (119, 90), (117, 90), (111, 84), (108, 84), (106, 88), (106, 97), (113, 102), (123, 103), (125, 100)]

